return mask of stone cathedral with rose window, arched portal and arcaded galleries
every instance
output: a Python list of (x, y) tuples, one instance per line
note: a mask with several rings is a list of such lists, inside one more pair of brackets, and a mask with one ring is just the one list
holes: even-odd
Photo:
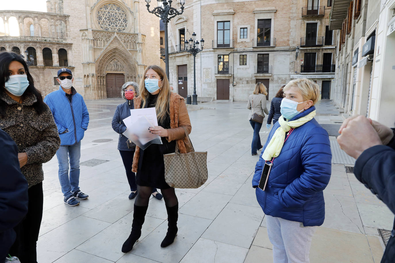
[[(46, 13), (0, 11), (0, 17), (0, 51), (28, 51), (43, 95), (58, 89), (60, 67), (73, 71), (73, 86), (85, 99), (103, 99), (119, 97), (124, 82), (138, 82), (147, 65), (160, 63), (159, 19), (144, 1), (47, 0)], [(12, 19), (19, 35), (8, 31)]]

